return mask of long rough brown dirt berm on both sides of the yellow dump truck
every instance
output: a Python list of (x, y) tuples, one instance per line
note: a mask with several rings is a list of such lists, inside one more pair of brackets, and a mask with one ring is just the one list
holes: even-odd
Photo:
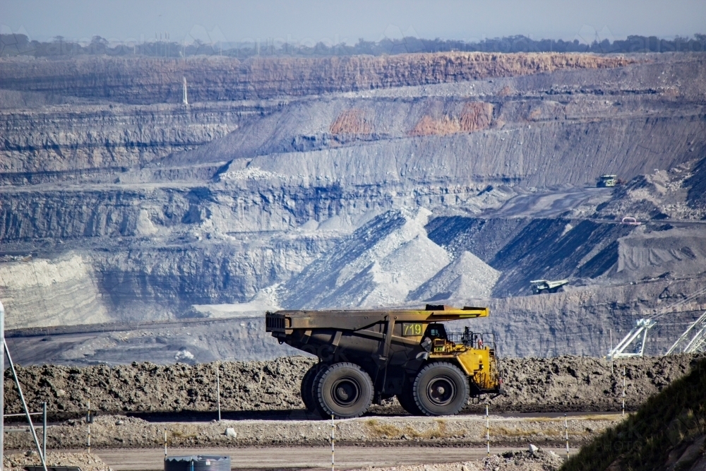
[[(493, 412), (590, 412), (620, 410), (623, 367), (626, 408), (635, 410), (650, 395), (686, 374), (698, 356), (673, 355), (621, 360), (614, 365), (592, 357), (505, 359), (504, 387), (508, 395), (490, 402)], [(102, 413), (213, 411), (216, 408), (216, 368), (220, 368), (224, 411), (303, 409), (299, 381), (315, 360), (283, 357), (268, 362), (127, 366), (18, 366), (18, 376), (30, 409), (47, 402), (49, 415), (79, 417), (91, 408)], [(8, 413), (21, 412), (20, 400), (5, 371)], [(471, 404), (469, 411), (480, 410)], [(398, 410), (398, 411), (397, 411)], [(396, 401), (377, 412), (402, 412)]]

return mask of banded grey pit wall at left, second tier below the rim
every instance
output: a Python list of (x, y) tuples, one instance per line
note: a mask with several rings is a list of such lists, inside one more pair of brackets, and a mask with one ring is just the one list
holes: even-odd
[[(278, 106), (239, 102), (6, 109), (0, 112), (0, 184), (12, 174), (138, 167), (222, 138), (244, 119)], [(31, 181), (32, 175), (25, 178)]]

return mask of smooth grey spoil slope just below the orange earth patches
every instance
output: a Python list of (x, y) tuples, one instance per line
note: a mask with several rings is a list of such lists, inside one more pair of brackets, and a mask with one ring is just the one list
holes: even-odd
[[(409, 107), (403, 102), (381, 107), (379, 119), (383, 121), (392, 114), (391, 110), (396, 114), (400, 109)], [(291, 117), (297, 117), (298, 111), (292, 109)], [(325, 111), (330, 112), (330, 109)], [(248, 142), (235, 131), (193, 153), (174, 156), (174, 165), (218, 158), (237, 159), (233, 166), (241, 167), (247, 160), (251, 172), (256, 169), (265, 172), (260, 179), (276, 178), (280, 185), (287, 180), (294, 183), (299, 177), (299, 181), (332, 182), (344, 187), (397, 182), (409, 186), (417, 182), (438, 185), (448, 181), (462, 185), (485, 183), (485, 186), (521, 184), (538, 189), (557, 185), (595, 186), (597, 176), (605, 172), (632, 178), (655, 168), (669, 169), (692, 160), (690, 143), (699, 141), (706, 116), (698, 113), (695, 110), (695, 114), (676, 116), (665, 112), (658, 119), (642, 115), (595, 121), (514, 123), (503, 129), (441, 136), (378, 136), (372, 141), (346, 145), (339, 145), (323, 135), (307, 134), (311, 136), (312, 148), (301, 150), (292, 148), (297, 135), (285, 135), (289, 144), (278, 138), (261, 145)], [(406, 128), (401, 121), (402, 130), (413, 129), (414, 123)], [(261, 131), (258, 126), (253, 127), (249, 129), (252, 133)], [(245, 147), (240, 148), (243, 143)], [(256, 152), (246, 157), (248, 149)], [(258, 155), (262, 151), (271, 154)], [(390, 157), (383, 159), (381, 155)], [(628, 157), (616, 160), (615, 155)], [(246, 178), (246, 175), (238, 176)]]

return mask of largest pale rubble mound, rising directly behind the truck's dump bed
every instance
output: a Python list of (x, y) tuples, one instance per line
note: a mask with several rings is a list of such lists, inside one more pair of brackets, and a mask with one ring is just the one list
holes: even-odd
[(282, 291), (289, 309), (373, 309), (405, 302), (438, 270), (446, 251), (426, 237), (429, 211), (389, 211), (346, 237), (292, 277)]

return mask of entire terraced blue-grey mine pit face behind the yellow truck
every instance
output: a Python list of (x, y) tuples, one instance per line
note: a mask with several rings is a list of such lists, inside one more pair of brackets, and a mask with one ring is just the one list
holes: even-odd
[[(508, 355), (603, 355), (706, 270), (705, 61), (3, 59), (0, 257), (33, 257), (0, 258), (8, 327), (210, 316), (243, 309), (195, 306), (266, 292), (260, 311), (487, 304)], [(606, 173), (629, 184), (594, 188)], [(13, 285), (67, 260), (83, 268), (55, 290)], [(570, 287), (527, 296), (538, 278)]]

